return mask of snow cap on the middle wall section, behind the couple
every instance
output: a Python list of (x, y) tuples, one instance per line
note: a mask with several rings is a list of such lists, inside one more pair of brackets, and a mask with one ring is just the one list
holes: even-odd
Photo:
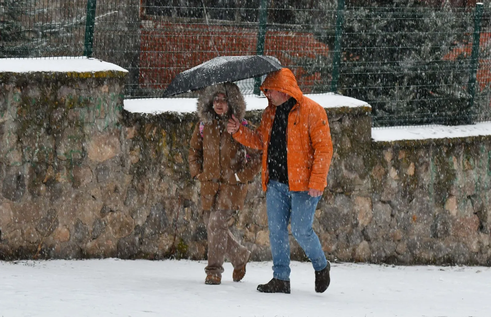
[[(313, 101), (319, 103), (324, 108), (336, 107), (370, 107), (364, 101), (341, 96), (333, 93), (327, 94), (307, 94), (305, 95)], [(268, 99), (265, 97), (245, 96), (246, 110), (262, 110), (268, 106)], [(196, 111), (196, 98), (150, 98), (150, 99), (127, 99), (124, 101), (124, 108), (129, 112), (159, 114), (163, 112), (188, 113)]]

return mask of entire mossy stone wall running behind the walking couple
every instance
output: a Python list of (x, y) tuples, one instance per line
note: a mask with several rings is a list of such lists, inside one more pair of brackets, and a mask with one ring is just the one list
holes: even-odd
[[(1, 259), (206, 259), (187, 163), (196, 115), (121, 110), (124, 79), (107, 75), (0, 76)], [(327, 115), (314, 228), (330, 260), (490, 265), (490, 137), (373, 142), (369, 107)], [(259, 176), (249, 188), (232, 230), (270, 260)]]

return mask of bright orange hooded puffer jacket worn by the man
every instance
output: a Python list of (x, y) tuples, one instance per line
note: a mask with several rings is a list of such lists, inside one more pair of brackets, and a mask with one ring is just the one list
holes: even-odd
[[(313, 100), (303, 96), (295, 76), (288, 68), (270, 73), (261, 90), (273, 89), (287, 93), (297, 100), (288, 115), (288, 185), (290, 190), (309, 188), (323, 191), (327, 185), (327, 172), (332, 158), (332, 141), (326, 110)], [(266, 191), (268, 175), (268, 146), (276, 106), (264, 110), (257, 130), (241, 126), (233, 137), (240, 143), (263, 150), (262, 184)]]

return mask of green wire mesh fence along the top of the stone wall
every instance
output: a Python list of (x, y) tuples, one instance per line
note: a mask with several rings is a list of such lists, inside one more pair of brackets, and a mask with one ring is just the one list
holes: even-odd
[(265, 54), (304, 93), (368, 102), (374, 126), (491, 120), (490, 9), (447, 2), (0, 0), (0, 57), (99, 58), (129, 70), (126, 98), (150, 98), (210, 58)]

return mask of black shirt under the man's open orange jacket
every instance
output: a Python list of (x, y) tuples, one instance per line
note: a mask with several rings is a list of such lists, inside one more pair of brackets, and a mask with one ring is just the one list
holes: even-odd
[(271, 128), (270, 144), (268, 146), (269, 179), (288, 185), (286, 129), (288, 127), (288, 114), (297, 101), (288, 99), (276, 106), (273, 127)]

